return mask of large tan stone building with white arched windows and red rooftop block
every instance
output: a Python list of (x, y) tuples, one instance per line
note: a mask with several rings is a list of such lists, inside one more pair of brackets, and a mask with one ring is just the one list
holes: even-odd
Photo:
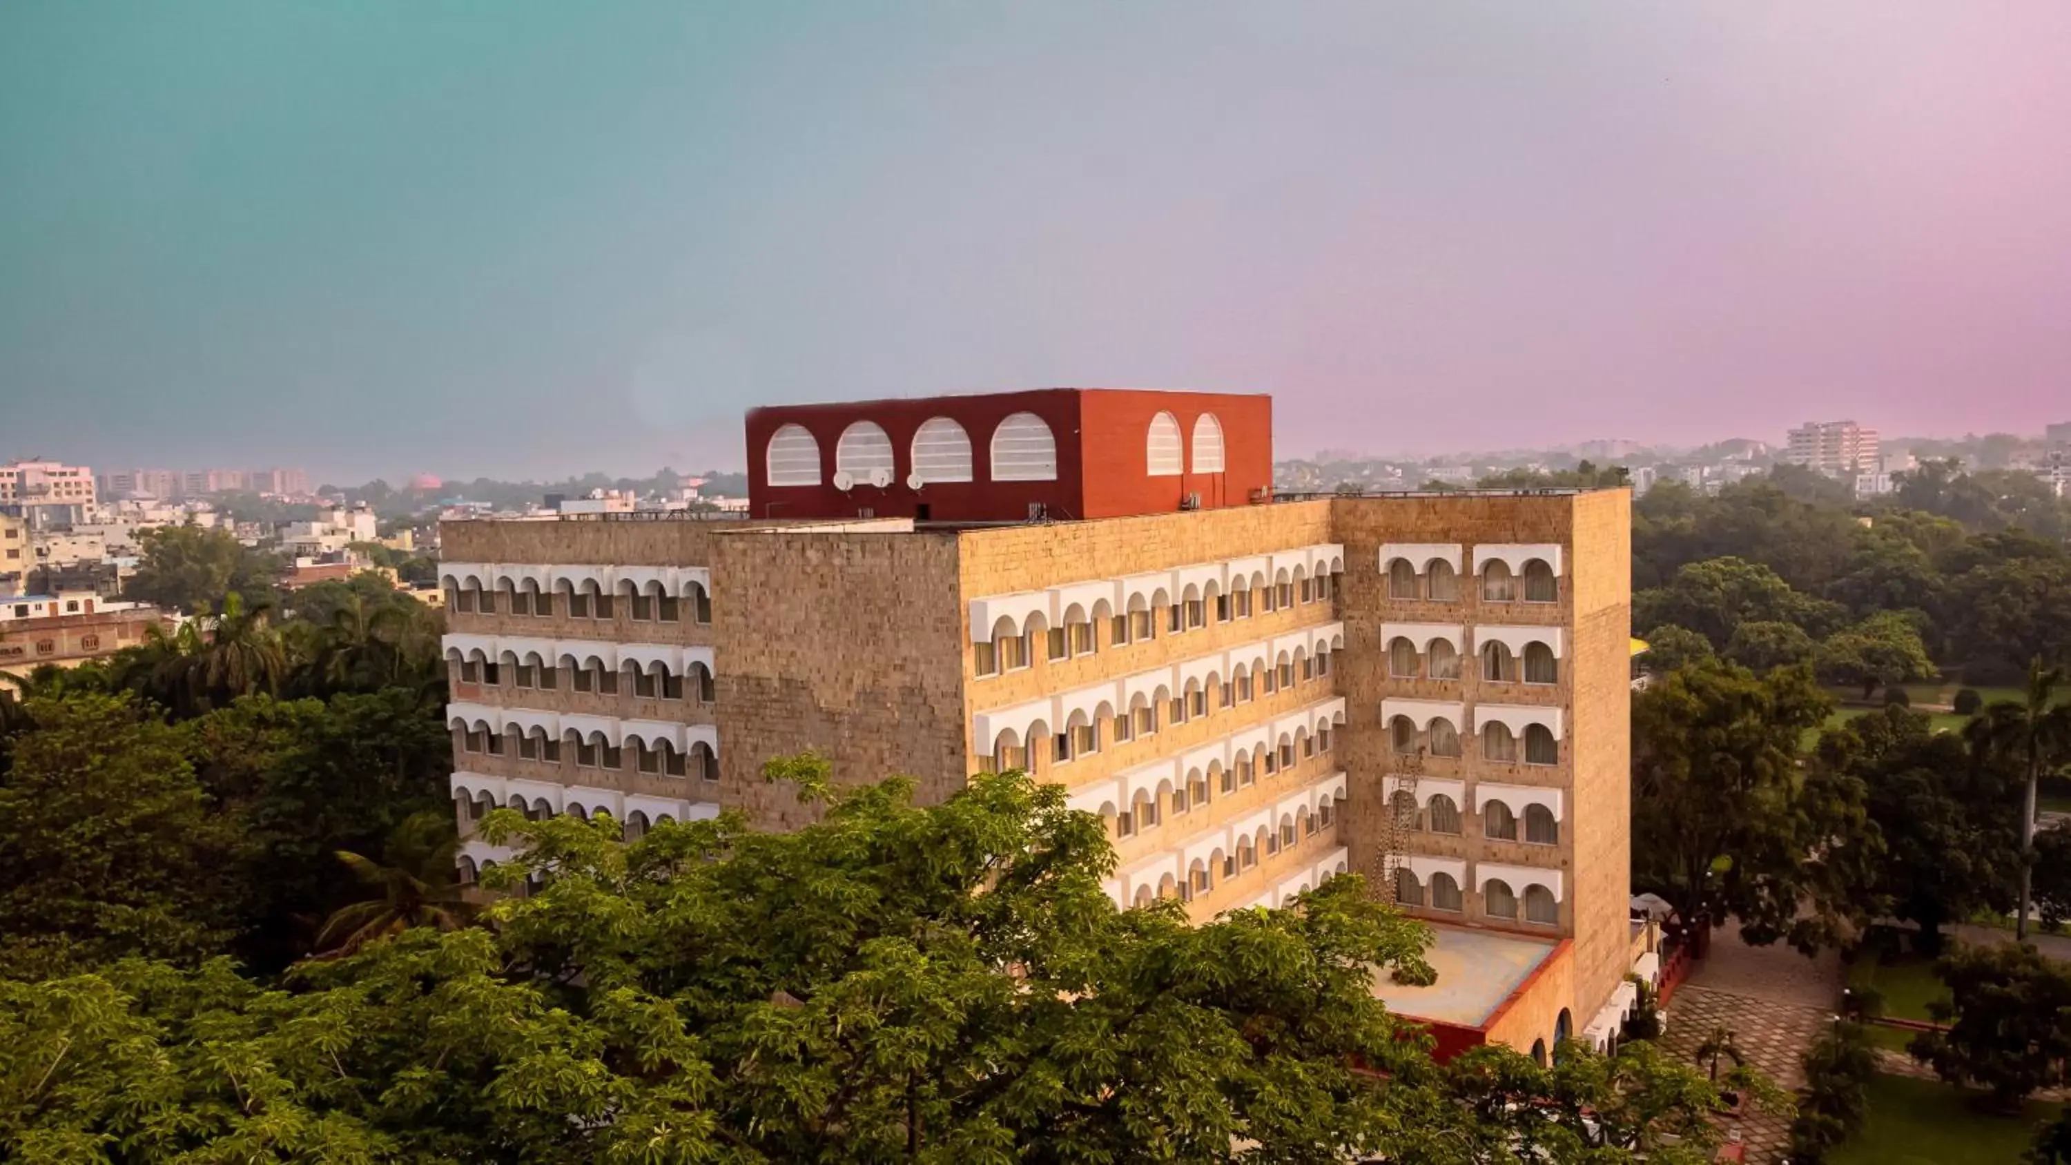
[(1058, 391), (748, 418), (754, 519), (441, 528), (462, 873), (491, 807), (630, 834), (816, 749), (940, 801), (1027, 770), (1116, 904), (1359, 871), (1433, 925), (1375, 993), (1446, 1053), (1603, 1045), (1630, 923), (1626, 490), (1276, 501), (1270, 401)]

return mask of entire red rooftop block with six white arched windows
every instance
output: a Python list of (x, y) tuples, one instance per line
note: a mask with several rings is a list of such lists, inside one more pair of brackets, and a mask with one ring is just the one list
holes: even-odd
[(750, 517), (1083, 519), (1267, 501), (1265, 393), (1033, 389), (748, 414)]

